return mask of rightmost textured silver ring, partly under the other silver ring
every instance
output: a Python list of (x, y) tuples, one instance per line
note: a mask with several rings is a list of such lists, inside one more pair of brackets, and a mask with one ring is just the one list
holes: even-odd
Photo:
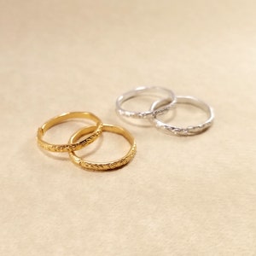
[[(208, 119), (200, 124), (200, 125), (191, 125), (186, 128), (180, 128), (177, 126), (167, 125), (163, 122), (161, 122), (159, 119), (157, 119), (157, 116), (154, 116), (151, 121), (153, 121), (154, 125), (159, 128), (162, 131), (165, 131), (166, 133), (172, 133), (179, 136), (188, 136), (188, 135), (195, 135), (198, 133), (201, 133), (202, 131), (207, 130), (212, 125), (213, 119), (214, 119), (214, 113), (213, 108), (207, 105), (207, 103), (202, 102), (199, 99), (196, 99), (193, 96), (177, 96), (177, 103), (178, 104), (190, 104), (194, 105), (197, 108), (201, 108), (203, 111), (205, 111), (208, 115)], [(165, 105), (166, 100), (163, 100), (161, 102), (154, 102), (150, 108), (151, 111), (154, 111), (155, 109), (158, 109), (161, 107), (161, 105)]]

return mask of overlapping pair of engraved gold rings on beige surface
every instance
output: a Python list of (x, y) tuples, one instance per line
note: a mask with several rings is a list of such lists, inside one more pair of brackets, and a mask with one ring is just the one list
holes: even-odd
[[(69, 141), (66, 144), (51, 144), (44, 141), (43, 137), (46, 131), (55, 125), (63, 123), (67, 119), (90, 119), (96, 122), (96, 124), (85, 126), (79, 131), (76, 131), (69, 138)], [(128, 153), (118, 160), (99, 163), (81, 159), (77, 154), (75, 154), (75, 151), (88, 146), (90, 143), (93, 143), (98, 137), (102, 135), (102, 131), (113, 132), (125, 137), (125, 139), (131, 144), (131, 148)], [(86, 135), (89, 136), (79, 141), (81, 137)], [(136, 142), (129, 131), (117, 125), (103, 124), (101, 119), (90, 112), (62, 113), (61, 115), (49, 119), (44, 123), (44, 125), (38, 128), (38, 145), (41, 148), (51, 152), (67, 152), (74, 164), (84, 167), (90, 171), (108, 171), (119, 168), (121, 166), (125, 166), (130, 160), (133, 159), (137, 149)]]

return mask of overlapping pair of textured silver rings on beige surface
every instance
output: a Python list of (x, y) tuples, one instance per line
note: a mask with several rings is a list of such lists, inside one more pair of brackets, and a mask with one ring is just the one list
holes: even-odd
[[(137, 112), (122, 108), (122, 105), (137, 96), (159, 96), (160, 99), (153, 102), (148, 111)], [(189, 125), (188, 127), (178, 127), (175, 125), (166, 124), (160, 119), (159, 115), (167, 113), (174, 109), (177, 104), (189, 104), (197, 108), (201, 108), (207, 113), (207, 120), (199, 125)], [(118, 97), (116, 101), (116, 111), (119, 115), (134, 118), (134, 119), (149, 119), (156, 128), (169, 134), (178, 136), (196, 135), (202, 131), (206, 131), (213, 122), (213, 109), (207, 103), (195, 98), (194, 96), (175, 96), (172, 90), (163, 87), (138, 87), (135, 90), (125, 92), (125, 94)]]

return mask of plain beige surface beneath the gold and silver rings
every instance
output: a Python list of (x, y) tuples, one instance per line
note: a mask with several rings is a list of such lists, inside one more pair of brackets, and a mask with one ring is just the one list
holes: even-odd
[[(256, 255), (255, 1), (0, 7), (1, 255)], [(148, 84), (210, 103), (214, 125), (170, 137), (126, 124), (116, 97)], [(131, 131), (131, 164), (85, 172), (40, 151), (38, 126), (75, 110)], [(106, 135), (90, 157), (122, 143)]]

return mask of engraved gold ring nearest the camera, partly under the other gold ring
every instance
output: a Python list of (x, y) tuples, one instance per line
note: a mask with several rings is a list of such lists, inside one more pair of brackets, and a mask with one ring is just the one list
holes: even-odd
[[(84, 135), (90, 133), (91, 131), (94, 131), (96, 129), (96, 125), (87, 126), (85, 128), (80, 129), (76, 133), (73, 134), (73, 136), (69, 139), (69, 143), (75, 143), (78, 141), (80, 137), (83, 137)], [(106, 125), (103, 124), (102, 131), (110, 131), (116, 134), (119, 134), (131, 144), (131, 148), (128, 151), (125, 156), (120, 158), (119, 160), (113, 160), (107, 163), (96, 163), (96, 162), (90, 162), (86, 160), (82, 160), (79, 158), (77, 154), (75, 154), (73, 151), (69, 152), (69, 156), (74, 164), (82, 166), (88, 170), (92, 171), (108, 171), (113, 170), (116, 168), (119, 168), (121, 166), (125, 166), (136, 154), (136, 143), (134, 138), (131, 136), (131, 133), (129, 131), (126, 131), (124, 128), (115, 126), (115, 125)]]

